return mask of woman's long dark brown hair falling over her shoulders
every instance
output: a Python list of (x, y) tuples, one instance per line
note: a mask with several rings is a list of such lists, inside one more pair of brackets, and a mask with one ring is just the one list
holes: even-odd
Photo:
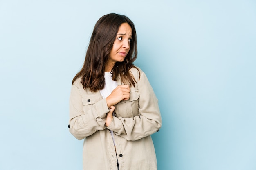
[(83, 68), (73, 78), (72, 84), (77, 78), (82, 77), (81, 83), (84, 89), (90, 88), (90, 91), (96, 92), (104, 88), (105, 64), (109, 59), (119, 27), (123, 23), (128, 23), (132, 28), (132, 41), (124, 61), (116, 62), (112, 68), (112, 80), (116, 80), (120, 74), (123, 83), (135, 86), (136, 80), (129, 72), (132, 67), (135, 67), (133, 62), (137, 58), (135, 26), (125, 15), (115, 13), (104, 15), (95, 24)]

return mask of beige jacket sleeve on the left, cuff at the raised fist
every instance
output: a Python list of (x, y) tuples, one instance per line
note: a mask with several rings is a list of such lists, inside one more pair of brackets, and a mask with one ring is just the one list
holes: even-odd
[[(76, 139), (84, 139), (96, 131), (105, 129), (106, 113), (109, 112), (106, 99), (101, 99), (91, 106), (84, 107), (79, 82), (75, 81), (70, 93), (70, 120), (69, 131)], [(90, 100), (89, 100), (90, 101)]]

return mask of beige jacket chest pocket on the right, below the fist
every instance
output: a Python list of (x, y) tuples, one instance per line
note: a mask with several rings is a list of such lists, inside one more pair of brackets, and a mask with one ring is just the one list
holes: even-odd
[(139, 91), (130, 92), (129, 100), (122, 100), (115, 109), (117, 117), (131, 118), (139, 116)]

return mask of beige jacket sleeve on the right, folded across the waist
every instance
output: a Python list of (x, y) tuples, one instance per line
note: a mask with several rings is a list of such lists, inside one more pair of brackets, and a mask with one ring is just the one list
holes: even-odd
[(139, 90), (139, 116), (132, 118), (113, 117), (108, 129), (126, 140), (139, 140), (152, 135), (162, 126), (158, 100), (148, 78), (141, 71), (137, 80)]

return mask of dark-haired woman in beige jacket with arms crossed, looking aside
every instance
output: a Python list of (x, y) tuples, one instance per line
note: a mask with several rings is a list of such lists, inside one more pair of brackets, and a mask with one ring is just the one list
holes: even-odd
[(69, 130), (83, 144), (84, 170), (157, 170), (151, 134), (162, 120), (137, 57), (135, 26), (118, 14), (101, 17), (83, 68), (72, 81)]

